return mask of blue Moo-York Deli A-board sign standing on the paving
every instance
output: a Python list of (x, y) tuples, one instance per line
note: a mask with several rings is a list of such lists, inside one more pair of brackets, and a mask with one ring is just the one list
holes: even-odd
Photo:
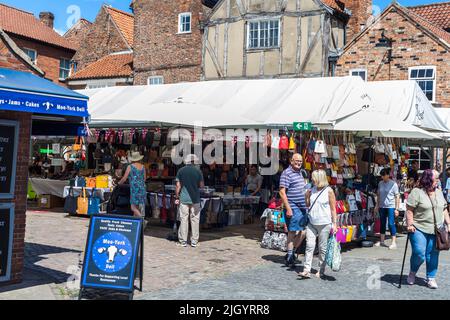
[(89, 225), (81, 286), (132, 292), (142, 219), (93, 215)]

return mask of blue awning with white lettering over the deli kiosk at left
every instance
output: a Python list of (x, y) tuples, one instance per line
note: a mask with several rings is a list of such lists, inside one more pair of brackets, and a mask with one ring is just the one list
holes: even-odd
[(0, 110), (88, 117), (88, 99), (32, 73), (0, 68)]

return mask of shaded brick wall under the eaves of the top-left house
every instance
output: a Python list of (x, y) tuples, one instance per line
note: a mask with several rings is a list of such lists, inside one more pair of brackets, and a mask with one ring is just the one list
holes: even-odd
[(58, 48), (39, 42), (30, 41), (10, 35), (11, 39), (20, 48), (28, 48), (37, 51), (37, 66), (45, 72), (45, 78), (55, 82), (58, 85), (66, 86), (64, 81), (59, 81), (59, 64), (60, 59), (71, 60), (75, 51)]

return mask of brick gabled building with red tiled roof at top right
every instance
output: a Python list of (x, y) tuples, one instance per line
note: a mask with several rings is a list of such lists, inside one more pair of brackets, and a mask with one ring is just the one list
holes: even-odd
[(436, 107), (450, 107), (450, 3), (392, 3), (348, 42), (336, 75), (416, 80)]

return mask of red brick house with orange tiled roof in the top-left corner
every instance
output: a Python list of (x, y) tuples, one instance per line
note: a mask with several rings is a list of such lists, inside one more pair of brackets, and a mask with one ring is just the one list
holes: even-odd
[(0, 28), (14, 43), (9, 46), (26, 54), (32, 68), (41, 70), (45, 78), (65, 85), (76, 48), (53, 30), (53, 21), (50, 12), (42, 12), (39, 20), (32, 13), (0, 4)]

